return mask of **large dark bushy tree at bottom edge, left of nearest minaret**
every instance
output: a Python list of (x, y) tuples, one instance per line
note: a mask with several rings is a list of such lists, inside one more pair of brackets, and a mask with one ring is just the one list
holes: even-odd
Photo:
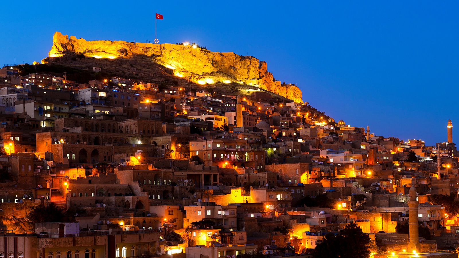
[(371, 240), (355, 222), (346, 225), (341, 235), (329, 233), (317, 241), (314, 258), (368, 258)]

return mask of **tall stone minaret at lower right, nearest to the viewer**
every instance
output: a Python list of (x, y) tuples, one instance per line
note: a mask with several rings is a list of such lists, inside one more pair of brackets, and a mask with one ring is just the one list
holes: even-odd
[[(413, 179), (414, 180), (414, 179)], [(408, 252), (419, 251), (419, 222), (418, 222), (418, 205), (416, 201), (416, 188), (412, 184), (409, 189), (409, 243)]]

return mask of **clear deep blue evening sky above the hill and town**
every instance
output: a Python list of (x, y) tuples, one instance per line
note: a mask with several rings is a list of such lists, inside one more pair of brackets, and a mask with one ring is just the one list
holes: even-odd
[(2, 8), (0, 65), (40, 61), (55, 31), (153, 41), (157, 12), (164, 15), (162, 43), (190, 41), (255, 56), (336, 120), (433, 145), (446, 140), (448, 119), (459, 128), (458, 7), (408, 0), (24, 0)]

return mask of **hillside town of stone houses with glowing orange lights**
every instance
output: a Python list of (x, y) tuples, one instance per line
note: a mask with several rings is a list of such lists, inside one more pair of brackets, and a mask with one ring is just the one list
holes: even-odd
[(371, 257), (457, 257), (451, 120), (426, 146), (256, 87), (26, 67), (0, 69), (0, 258), (312, 258), (353, 224)]

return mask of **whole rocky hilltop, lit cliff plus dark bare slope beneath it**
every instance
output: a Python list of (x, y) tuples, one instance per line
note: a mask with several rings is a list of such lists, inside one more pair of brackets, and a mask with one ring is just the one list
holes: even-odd
[(49, 57), (42, 62), (79, 68), (102, 66), (118, 76), (131, 75), (139, 79), (159, 77), (171, 80), (172, 75), (174, 79), (185, 79), (194, 86), (238, 84), (242, 93), (249, 94), (250, 88), (258, 88), (302, 102), (301, 90), (293, 84), (276, 81), (267, 71), (266, 62), (253, 56), (211, 52), (191, 45), (86, 41), (56, 32)]

